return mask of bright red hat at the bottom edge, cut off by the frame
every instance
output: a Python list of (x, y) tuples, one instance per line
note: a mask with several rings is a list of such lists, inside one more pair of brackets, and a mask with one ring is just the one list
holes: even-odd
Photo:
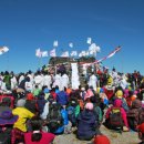
[(110, 144), (110, 140), (105, 135), (97, 135), (94, 138), (94, 144)]

